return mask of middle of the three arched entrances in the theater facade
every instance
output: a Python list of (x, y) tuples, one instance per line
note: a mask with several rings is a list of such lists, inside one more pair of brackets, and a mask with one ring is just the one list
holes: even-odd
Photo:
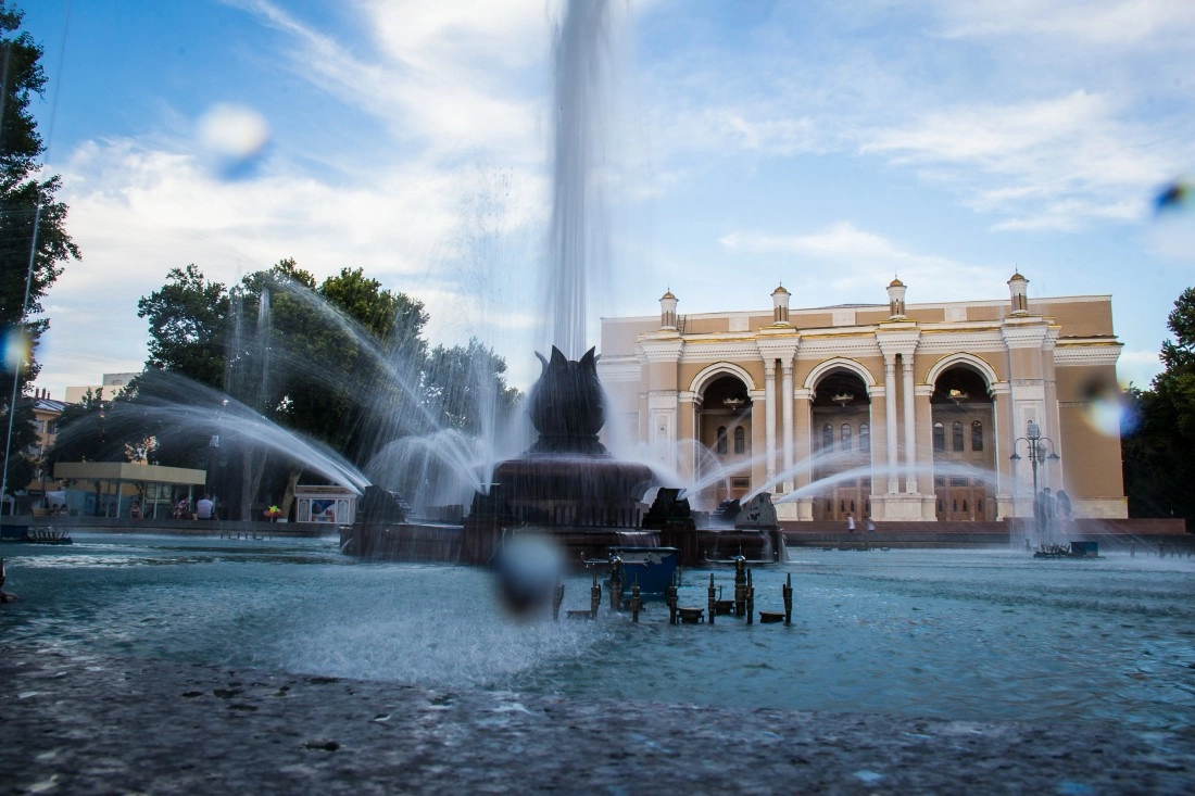
[(810, 406), (814, 482), (825, 482), (813, 516), (862, 522), (871, 514), (871, 398), (857, 373), (835, 368), (819, 379)]

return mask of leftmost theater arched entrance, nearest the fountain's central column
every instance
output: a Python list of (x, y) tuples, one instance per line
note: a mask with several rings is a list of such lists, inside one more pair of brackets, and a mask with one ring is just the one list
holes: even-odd
[[(709, 470), (724, 473), (701, 492), (711, 506), (717, 506), (750, 491), (752, 400), (747, 385), (740, 378), (725, 374), (701, 390), (699, 405), (698, 441), (711, 455), (698, 463), (698, 479), (704, 479)], [(736, 465), (741, 467), (736, 469)]]

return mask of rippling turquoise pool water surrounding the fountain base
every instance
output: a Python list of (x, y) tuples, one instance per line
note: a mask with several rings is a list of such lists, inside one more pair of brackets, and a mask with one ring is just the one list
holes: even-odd
[[(327, 540), (76, 537), (5, 550), (6, 638), (290, 672), (697, 704), (958, 720), (1195, 724), (1195, 562), (791, 550), (754, 572), (792, 626), (511, 623), (482, 570), (345, 563)], [(170, 564), (170, 565), (161, 565)], [(715, 570), (725, 593), (733, 572)], [(681, 605), (705, 606), (709, 570)], [(564, 610), (589, 580), (565, 581)], [(608, 604), (608, 602), (607, 602)], [(17, 610), (11, 610), (11, 608)], [(563, 612), (562, 612), (563, 613)]]

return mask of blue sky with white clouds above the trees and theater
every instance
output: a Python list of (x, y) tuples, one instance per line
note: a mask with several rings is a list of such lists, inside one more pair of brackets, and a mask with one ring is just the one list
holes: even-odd
[[(578, 0), (580, 1), (580, 0)], [(13, 5), (10, 0), (10, 5)], [(25, 0), (82, 258), (36, 386), (140, 371), (137, 300), (293, 257), (539, 372), (559, 0)], [(613, 0), (593, 317), (1110, 294), (1123, 382), (1195, 284), (1195, 4)], [(598, 342), (596, 322), (590, 322)]]

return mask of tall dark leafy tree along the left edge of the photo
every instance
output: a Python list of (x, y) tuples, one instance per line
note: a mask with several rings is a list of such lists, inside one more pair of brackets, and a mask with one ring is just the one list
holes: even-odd
[[(57, 176), (41, 178), (38, 158), (45, 147), (29, 111), (32, 94), (45, 88), (42, 48), (17, 32), (24, 13), (0, 0), (0, 420), (11, 427), (5, 459), (36, 439), (32, 410), (24, 396), (37, 378), (37, 343), (49, 327), (41, 300), (62, 274), (63, 263), (79, 257), (66, 231), (67, 207), (55, 201)], [(16, 404), (16, 405), (13, 405)], [(12, 412), (12, 415), (10, 415)], [(32, 464), (13, 455), (0, 460), (6, 486), (24, 486)]]

